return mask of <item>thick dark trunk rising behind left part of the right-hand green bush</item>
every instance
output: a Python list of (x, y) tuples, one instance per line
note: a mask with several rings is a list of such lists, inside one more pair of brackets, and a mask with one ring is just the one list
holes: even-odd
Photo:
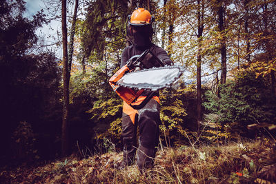
[(219, 32), (221, 33), (222, 39), (220, 41), (220, 54), (221, 54), (221, 83), (226, 83), (226, 36), (224, 28), (224, 14), (225, 10), (222, 2), (219, 5)]

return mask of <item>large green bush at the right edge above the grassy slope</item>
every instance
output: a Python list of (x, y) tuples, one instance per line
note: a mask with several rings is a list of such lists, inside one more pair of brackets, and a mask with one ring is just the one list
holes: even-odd
[(203, 105), (219, 116), (215, 123), (230, 125), (230, 132), (245, 135), (249, 124), (276, 123), (275, 96), (270, 95), (262, 77), (240, 72), (235, 81), (220, 85), (219, 89), (220, 97), (207, 91)]

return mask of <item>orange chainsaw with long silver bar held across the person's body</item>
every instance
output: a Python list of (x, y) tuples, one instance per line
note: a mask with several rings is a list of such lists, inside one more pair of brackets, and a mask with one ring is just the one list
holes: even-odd
[[(121, 99), (139, 110), (144, 108), (157, 90), (176, 83), (183, 72), (181, 65), (165, 65), (150, 50), (146, 50), (128, 59), (126, 65), (111, 76), (109, 83)], [(150, 94), (139, 105), (134, 105), (145, 90), (150, 91)]]

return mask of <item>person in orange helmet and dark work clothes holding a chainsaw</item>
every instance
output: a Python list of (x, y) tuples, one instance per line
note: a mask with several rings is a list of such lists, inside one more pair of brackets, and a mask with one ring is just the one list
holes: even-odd
[[(147, 49), (150, 49), (166, 65), (173, 64), (167, 52), (152, 43), (153, 21), (154, 17), (144, 8), (138, 8), (132, 12), (131, 17), (128, 17), (127, 34), (131, 45), (126, 47), (122, 53), (121, 67), (126, 64), (128, 59)], [(137, 100), (137, 104), (143, 101), (149, 93), (143, 92)], [(121, 133), (124, 143), (124, 159), (120, 168), (134, 163), (136, 151), (139, 170), (142, 172), (144, 169), (152, 167), (159, 141), (159, 124), (161, 122), (159, 113), (159, 92), (156, 92), (155, 96), (140, 110), (134, 110), (124, 101)], [(136, 140), (137, 127), (139, 127), (139, 147), (137, 147)]]

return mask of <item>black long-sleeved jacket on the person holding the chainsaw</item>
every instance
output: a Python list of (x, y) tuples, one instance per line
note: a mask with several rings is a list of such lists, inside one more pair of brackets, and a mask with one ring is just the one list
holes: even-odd
[[(170, 57), (168, 57), (166, 50), (152, 43), (150, 46), (144, 48), (134, 45), (130, 45), (124, 48), (123, 53), (121, 54), (121, 67), (126, 65), (128, 59), (135, 55), (142, 54), (148, 48), (150, 48), (150, 51), (155, 54), (155, 56), (158, 57), (161, 61), (163, 61), (165, 65), (173, 65), (173, 62), (172, 60), (170, 60)], [(150, 92), (143, 92), (141, 96), (148, 96), (148, 94), (150, 94)], [(159, 92), (156, 92), (155, 96), (159, 96)]]

